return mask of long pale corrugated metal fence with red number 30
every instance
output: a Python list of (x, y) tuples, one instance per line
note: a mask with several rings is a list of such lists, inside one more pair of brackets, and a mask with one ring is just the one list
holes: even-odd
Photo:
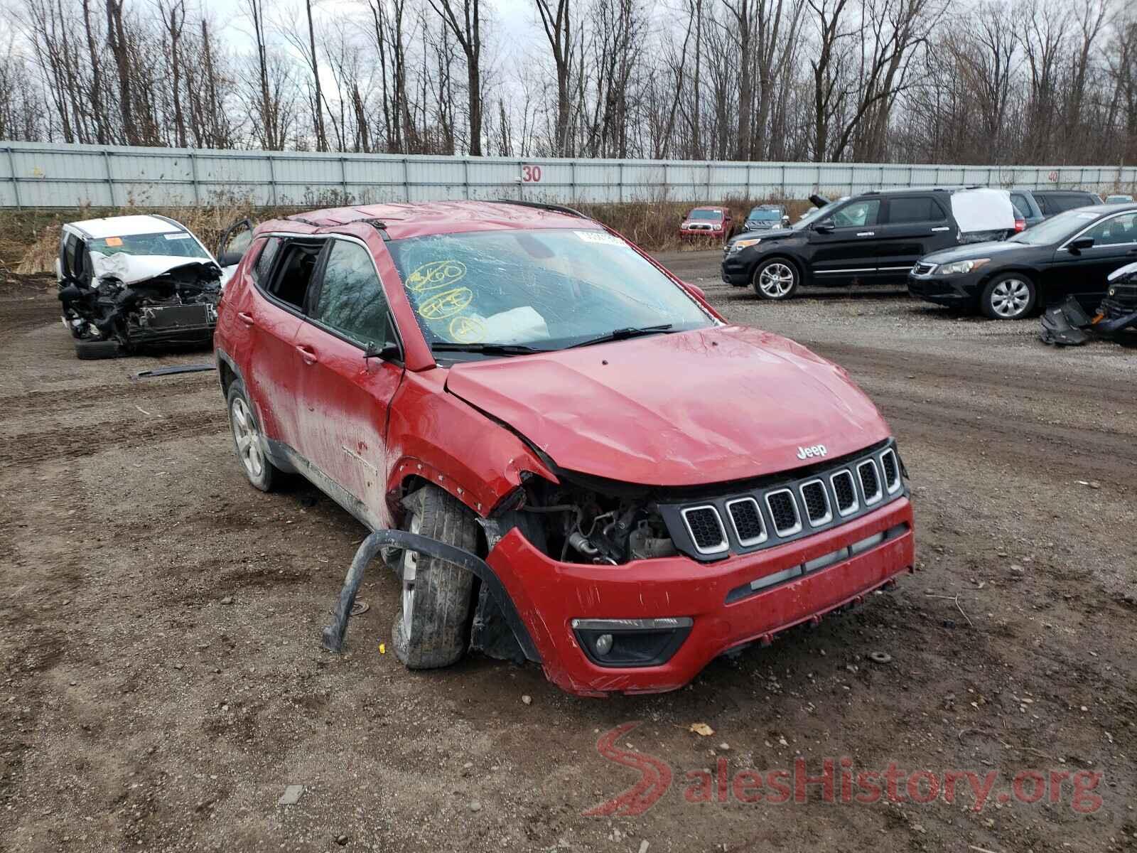
[(722, 204), (978, 184), (1134, 192), (1137, 167), (533, 159), (0, 142), (0, 207), (327, 206), (439, 199)]

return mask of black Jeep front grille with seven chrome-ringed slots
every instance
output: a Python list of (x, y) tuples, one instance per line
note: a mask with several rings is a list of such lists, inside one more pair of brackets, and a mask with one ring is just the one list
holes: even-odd
[(659, 499), (675, 547), (696, 560), (717, 560), (810, 536), (878, 511), (907, 495), (891, 441), (802, 469), (799, 478), (765, 478), (750, 488), (702, 499)]

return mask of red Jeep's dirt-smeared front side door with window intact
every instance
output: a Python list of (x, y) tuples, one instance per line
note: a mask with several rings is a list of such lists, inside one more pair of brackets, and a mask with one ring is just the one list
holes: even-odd
[[(388, 345), (385, 356), (381, 353)], [(331, 241), (296, 337), (300, 454), (356, 517), (384, 525), (387, 413), (402, 380), (398, 336), (371, 249)], [(313, 472), (309, 472), (313, 473)]]

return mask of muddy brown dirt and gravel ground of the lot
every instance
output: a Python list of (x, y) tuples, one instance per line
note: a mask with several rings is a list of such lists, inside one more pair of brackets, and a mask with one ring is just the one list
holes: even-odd
[[(770, 305), (719, 284), (715, 252), (664, 260), (877, 400), (920, 571), (689, 688), (600, 701), (532, 665), (406, 671), (380, 653), (388, 574), (365, 582), (350, 654), (322, 652), (363, 529), (304, 483), (246, 485), (211, 373), (131, 378), (208, 353), (78, 362), (52, 293), (2, 285), (0, 850), (1137, 850), (1137, 354), (1046, 349), (1034, 322), (895, 292)], [(670, 788), (584, 817), (638, 780), (597, 751), (633, 721), (615, 745), (669, 765)], [(721, 802), (717, 782), (689, 802), (702, 769), (802, 757), (819, 776), (827, 756), (994, 789), (981, 811), (962, 781), (954, 803), (844, 803), (839, 778), (836, 803), (820, 785)], [(1009, 796), (1024, 770), (1043, 802)], [(1079, 771), (1101, 776), (1076, 803), (1061, 775)]]

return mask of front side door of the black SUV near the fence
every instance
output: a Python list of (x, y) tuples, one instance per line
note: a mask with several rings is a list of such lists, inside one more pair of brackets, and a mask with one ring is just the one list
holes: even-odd
[(877, 278), (880, 199), (853, 199), (814, 224), (808, 247), (813, 283), (872, 282)]

